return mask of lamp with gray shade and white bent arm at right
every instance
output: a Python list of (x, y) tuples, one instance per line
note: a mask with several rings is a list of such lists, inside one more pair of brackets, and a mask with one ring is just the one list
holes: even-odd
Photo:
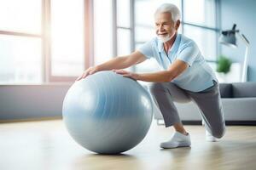
[(218, 42), (227, 45), (232, 48), (236, 48), (236, 35), (241, 38), (242, 42), (246, 45), (246, 50), (244, 54), (244, 61), (242, 66), (242, 73), (241, 73), (241, 82), (247, 82), (247, 67), (248, 67), (248, 48), (250, 45), (250, 42), (247, 40), (247, 38), (239, 32), (239, 30), (236, 30), (236, 24), (233, 25), (232, 30), (228, 31), (222, 31), (221, 35), (218, 39)]

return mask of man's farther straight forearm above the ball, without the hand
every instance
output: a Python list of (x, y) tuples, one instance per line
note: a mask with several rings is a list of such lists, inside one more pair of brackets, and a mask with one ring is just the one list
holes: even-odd
[(110, 71), (113, 69), (125, 69), (131, 65), (127, 62), (127, 56), (120, 56), (113, 59), (108, 60), (101, 65), (96, 65), (98, 71)]

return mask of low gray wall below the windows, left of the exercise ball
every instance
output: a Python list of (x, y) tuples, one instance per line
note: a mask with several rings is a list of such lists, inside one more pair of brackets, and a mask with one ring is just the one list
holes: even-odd
[(0, 121), (61, 116), (70, 85), (1, 85)]

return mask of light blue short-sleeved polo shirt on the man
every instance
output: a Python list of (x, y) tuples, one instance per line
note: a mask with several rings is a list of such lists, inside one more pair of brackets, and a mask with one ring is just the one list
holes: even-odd
[(148, 59), (152, 57), (156, 59), (163, 70), (167, 70), (175, 59), (186, 62), (189, 67), (172, 80), (179, 88), (200, 92), (212, 87), (213, 80), (218, 82), (212, 68), (207, 65), (196, 43), (182, 34), (177, 34), (168, 54), (165, 52), (163, 42), (157, 37), (145, 42), (138, 48), (138, 51)]

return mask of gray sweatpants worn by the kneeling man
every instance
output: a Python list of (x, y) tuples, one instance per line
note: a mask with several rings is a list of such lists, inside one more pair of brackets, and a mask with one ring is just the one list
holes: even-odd
[(214, 82), (214, 86), (201, 92), (178, 88), (172, 82), (154, 82), (150, 86), (150, 92), (164, 117), (166, 127), (181, 123), (174, 101), (180, 103), (194, 101), (201, 110), (201, 117), (207, 131), (216, 138), (221, 138), (224, 135), (225, 122), (218, 82)]

